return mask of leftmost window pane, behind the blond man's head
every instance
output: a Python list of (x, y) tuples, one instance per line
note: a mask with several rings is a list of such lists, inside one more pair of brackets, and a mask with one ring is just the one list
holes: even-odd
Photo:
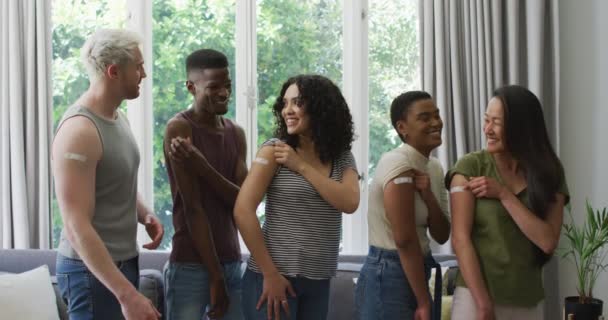
[[(80, 62), (80, 48), (99, 28), (122, 28), (126, 0), (53, 0), (52, 79), (54, 128), (65, 110), (89, 87), (89, 78)], [(63, 222), (53, 192), (51, 217), (53, 248), (59, 245)]]

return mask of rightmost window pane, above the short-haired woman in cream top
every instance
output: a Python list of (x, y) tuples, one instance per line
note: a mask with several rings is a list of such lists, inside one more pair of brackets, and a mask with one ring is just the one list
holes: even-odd
[[(415, 0), (372, 0), (369, 19), (369, 177), (384, 152), (401, 144), (391, 125), (391, 102), (420, 89)], [(371, 181), (371, 180), (370, 180)]]

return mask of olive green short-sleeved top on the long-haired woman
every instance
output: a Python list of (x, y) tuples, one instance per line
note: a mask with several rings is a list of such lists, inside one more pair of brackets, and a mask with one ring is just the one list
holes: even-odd
[[(448, 171), (448, 187), (455, 174), (465, 177), (486, 176), (503, 184), (494, 158), (485, 150), (462, 157)], [(561, 174), (562, 182), (558, 192), (568, 199), (568, 186), (564, 173)], [(530, 208), (527, 189), (516, 196)], [(543, 300), (542, 251), (523, 234), (500, 200), (480, 198), (475, 201), (471, 240), (485, 285), (494, 303), (532, 307)], [(456, 285), (466, 287), (461, 274), (458, 274)]]

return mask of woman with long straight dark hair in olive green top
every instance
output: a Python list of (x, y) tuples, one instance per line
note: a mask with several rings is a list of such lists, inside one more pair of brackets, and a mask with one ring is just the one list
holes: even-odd
[(460, 274), (452, 320), (542, 319), (542, 267), (557, 246), (568, 188), (538, 98), (497, 89), (485, 150), (446, 177)]

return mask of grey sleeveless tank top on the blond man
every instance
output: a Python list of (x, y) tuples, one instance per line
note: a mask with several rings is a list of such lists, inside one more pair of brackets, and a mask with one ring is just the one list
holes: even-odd
[[(102, 156), (95, 173), (95, 212), (93, 228), (101, 237), (114, 261), (137, 256), (137, 170), (139, 150), (122, 112), (116, 120), (101, 118), (82, 106), (71, 106), (63, 115), (57, 131), (69, 118), (83, 116), (97, 127)], [(59, 253), (80, 259), (61, 231)]]

